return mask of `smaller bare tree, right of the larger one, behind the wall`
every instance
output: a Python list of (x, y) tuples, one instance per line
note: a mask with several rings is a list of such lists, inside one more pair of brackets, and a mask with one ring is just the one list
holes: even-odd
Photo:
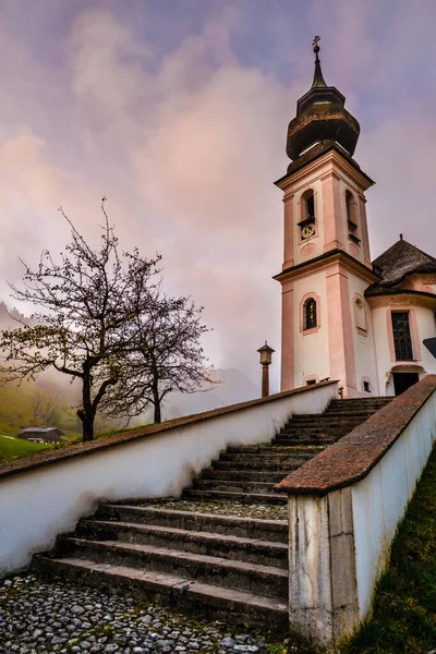
[(168, 298), (161, 282), (153, 288), (146, 311), (135, 312), (134, 348), (123, 362), (122, 384), (105, 398), (106, 411), (134, 416), (152, 404), (154, 421), (160, 423), (169, 392), (192, 393), (215, 386), (201, 346), (202, 335), (208, 331), (201, 322), (202, 312), (189, 298)]

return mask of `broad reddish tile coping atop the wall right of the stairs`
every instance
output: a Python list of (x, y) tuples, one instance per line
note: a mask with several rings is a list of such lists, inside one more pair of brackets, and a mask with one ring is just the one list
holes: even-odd
[(427, 375), (274, 489), (289, 495), (322, 496), (363, 480), (435, 390), (436, 375)]

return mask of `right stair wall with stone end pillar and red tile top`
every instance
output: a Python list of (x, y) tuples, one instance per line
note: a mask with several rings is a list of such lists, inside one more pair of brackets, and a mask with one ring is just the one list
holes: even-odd
[(428, 375), (275, 487), (289, 494), (292, 631), (336, 652), (368, 617), (435, 438)]

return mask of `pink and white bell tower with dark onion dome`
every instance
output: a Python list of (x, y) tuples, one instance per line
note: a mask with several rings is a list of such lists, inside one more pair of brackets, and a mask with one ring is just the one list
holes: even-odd
[(344, 397), (378, 392), (371, 310), (373, 272), (365, 192), (353, 159), (360, 125), (327, 86), (314, 39), (315, 72), (288, 128), (283, 192), (281, 389), (338, 379)]

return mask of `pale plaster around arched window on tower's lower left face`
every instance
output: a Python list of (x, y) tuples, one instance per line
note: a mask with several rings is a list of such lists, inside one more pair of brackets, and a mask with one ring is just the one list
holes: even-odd
[[(303, 331), (302, 302), (311, 294), (316, 295), (317, 324), (316, 330)], [(325, 271), (307, 275), (294, 281), (294, 384), (304, 386), (307, 378), (316, 380), (329, 376), (328, 356), (328, 318)]]

